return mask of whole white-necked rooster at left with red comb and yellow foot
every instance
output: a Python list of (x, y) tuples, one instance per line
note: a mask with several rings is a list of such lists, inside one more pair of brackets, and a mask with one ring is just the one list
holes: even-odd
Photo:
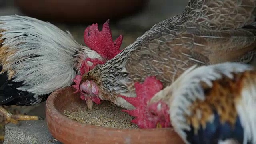
[[(109, 20), (98, 32), (78, 44), (69, 32), (24, 16), (0, 17), (0, 114), (7, 122), (37, 120), (38, 116), (12, 115), (2, 105), (38, 104), (59, 89), (71, 86), (76, 75), (103, 64), (118, 52), (122, 36), (111, 41)], [(93, 29), (89, 26), (85, 32)], [(100, 43), (100, 40), (102, 41)], [(106, 42), (106, 41), (109, 42)]]

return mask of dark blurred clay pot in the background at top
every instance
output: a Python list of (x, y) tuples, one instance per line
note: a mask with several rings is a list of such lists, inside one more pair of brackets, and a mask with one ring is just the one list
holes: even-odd
[(20, 10), (41, 20), (104, 22), (141, 10), (148, 0), (15, 0)]

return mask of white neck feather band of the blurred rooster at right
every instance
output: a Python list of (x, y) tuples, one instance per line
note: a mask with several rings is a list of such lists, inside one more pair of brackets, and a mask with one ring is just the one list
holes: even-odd
[[(190, 130), (190, 126), (187, 124), (184, 116), (185, 114), (188, 116), (191, 115), (189, 106), (192, 102), (196, 99), (205, 99), (200, 82), (205, 82), (208, 86), (212, 86), (212, 81), (222, 78), (222, 75), (232, 78), (232, 73), (252, 69), (253, 68), (249, 65), (230, 62), (201, 66), (198, 68), (193, 66), (186, 70), (173, 84), (164, 88), (164, 90), (172, 92), (172, 97), (170, 98), (170, 120), (184, 142), (188, 143), (184, 130)], [(253, 108), (251, 110), (253, 110)]]

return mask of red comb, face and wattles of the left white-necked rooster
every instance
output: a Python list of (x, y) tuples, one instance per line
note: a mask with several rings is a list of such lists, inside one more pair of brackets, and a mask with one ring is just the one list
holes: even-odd
[[(92, 50), (95, 50), (100, 54), (103, 58), (106, 58), (107, 60), (114, 58), (117, 54), (119, 54), (121, 51), (120, 46), (122, 44), (123, 36), (120, 35), (114, 42), (112, 40), (112, 34), (111, 30), (109, 28), (109, 20), (107, 20), (103, 24), (102, 31), (98, 30), (98, 24), (92, 24), (91, 26), (88, 26), (84, 30), (84, 42), (87, 46), (89, 46)], [(92, 66), (88, 65), (88, 61), (92, 62)], [(82, 75), (92, 68), (94, 68), (98, 64), (104, 64), (105, 60), (99, 60), (99, 59), (91, 59), (86, 58), (80, 66), (80, 75), (77, 75), (73, 81), (76, 83), (73, 85), (74, 88), (76, 88), (76, 92), (80, 92), (80, 82), (82, 80)], [(82, 99), (84, 99), (84, 96), (81, 94), (80, 96)]]

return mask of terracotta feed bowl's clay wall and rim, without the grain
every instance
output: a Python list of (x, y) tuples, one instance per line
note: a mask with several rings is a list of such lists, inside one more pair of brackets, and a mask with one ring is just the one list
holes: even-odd
[(46, 101), (46, 120), (50, 133), (64, 144), (184, 144), (172, 128), (117, 129), (92, 126), (70, 120), (64, 110), (86, 106), (74, 88), (53, 92)]

